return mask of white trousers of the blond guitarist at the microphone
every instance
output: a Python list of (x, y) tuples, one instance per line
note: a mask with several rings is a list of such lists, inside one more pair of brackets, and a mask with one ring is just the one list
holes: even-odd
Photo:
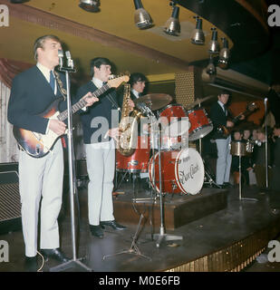
[(59, 247), (57, 218), (63, 196), (63, 147), (57, 140), (42, 158), (19, 152), (19, 190), (25, 256), (37, 254), (38, 213), (41, 201), (41, 248)]

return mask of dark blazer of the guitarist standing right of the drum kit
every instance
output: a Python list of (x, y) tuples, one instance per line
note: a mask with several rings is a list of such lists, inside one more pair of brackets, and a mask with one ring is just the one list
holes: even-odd
[(225, 111), (222, 109), (222, 107), (219, 105), (218, 102), (215, 102), (211, 109), (210, 109), (210, 114), (209, 117), (211, 121), (213, 122), (213, 133), (212, 133), (212, 138), (213, 139), (227, 139), (227, 137), (223, 136), (222, 133), (217, 131), (218, 126), (227, 126), (227, 118), (231, 116), (230, 111), (227, 110), (227, 115)]

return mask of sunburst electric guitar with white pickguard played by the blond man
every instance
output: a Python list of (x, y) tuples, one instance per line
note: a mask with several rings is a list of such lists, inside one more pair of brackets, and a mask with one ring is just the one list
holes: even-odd
[[(128, 75), (122, 75), (116, 77), (115, 79), (109, 80), (105, 85), (95, 92), (92, 92), (92, 97), (99, 97), (104, 92), (108, 91), (110, 88), (117, 88), (122, 82), (128, 82), (130, 77)], [(39, 114), (40, 117), (48, 119), (56, 119), (59, 121), (64, 121), (68, 117), (68, 111), (63, 112), (58, 111), (58, 104), (62, 101), (62, 98), (55, 100), (51, 105)], [(79, 111), (84, 108), (87, 102), (80, 100), (72, 105), (72, 113)], [(57, 135), (53, 131), (49, 130), (47, 134), (37, 133), (34, 131), (28, 131), (22, 128), (13, 128), (14, 138), (17, 141), (19, 147), (24, 150), (27, 154), (40, 158), (48, 154), (62, 135)]]

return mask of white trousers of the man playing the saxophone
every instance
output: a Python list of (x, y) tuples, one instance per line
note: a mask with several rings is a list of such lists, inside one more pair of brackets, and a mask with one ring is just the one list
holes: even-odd
[(114, 140), (85, 144), (89, 174), (89, 223), (98, 226), (100, 221), (113, 220), (112, 189), (115, 173)]

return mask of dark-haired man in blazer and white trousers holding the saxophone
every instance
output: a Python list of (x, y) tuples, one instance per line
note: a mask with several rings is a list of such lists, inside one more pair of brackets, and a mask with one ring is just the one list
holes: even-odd
[[(85, 92), (94, 92), (108, 82), (111, 62), (96, 57), (91, 63), (92, 80), (77, 92), (78, 99)], [(115, 90), (101, 95), (100, 102), (82, 112), (83, 142), (86, 152), (88, 185), (88, 215), (90, 230), (95, 237), (104, 236), (102, 229), (124, 229), (113, 216), (112, 189), (115, 172), (115, 140), (118, 140), (121, 108)]]

